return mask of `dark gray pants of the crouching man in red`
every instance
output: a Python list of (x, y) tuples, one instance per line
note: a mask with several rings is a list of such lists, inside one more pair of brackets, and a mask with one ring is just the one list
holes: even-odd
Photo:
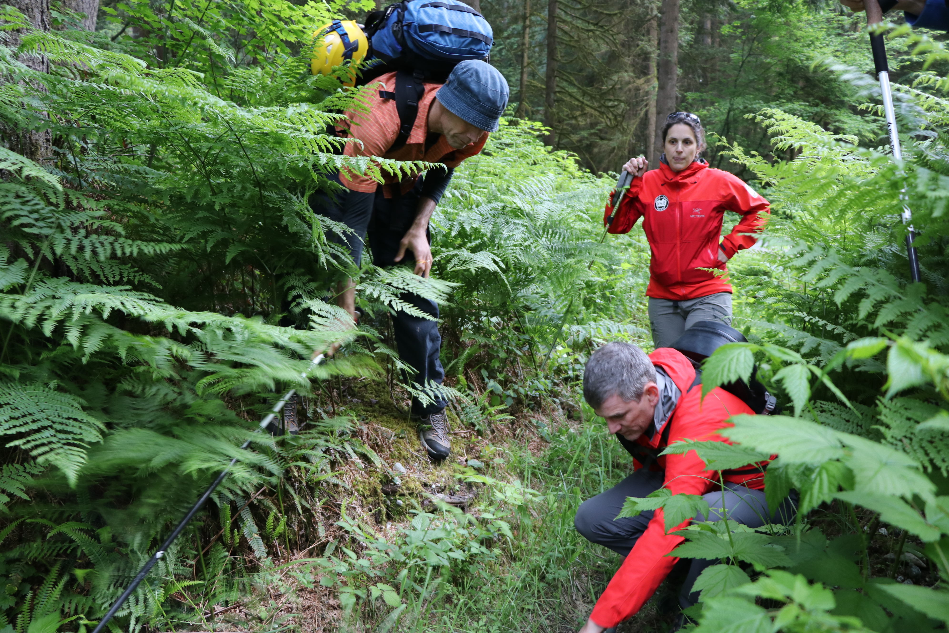
[[(580, 504), (573, 525), (587, 541), (612, 549), (621, 556), (628, 556), (656, 512), (650, 510), (639, 516), (623, 519), (616, 518), (616, 515), (623, 508), (627, 496), (643, 497), (660, 489), (664, 476), (662, 472), (644, 469), (629, 475), (605, 493), (597, 494)], [(766, 523), (791, 523), (796, 512), (796, 504), (790, 496), (775, 512), (769, 512), (764, 491), (733, 483), (726, 483), (724, 492), (716, 490), (702, 498), (709, 504), (709, 516), (706, 518), (699, 512), (697, 521), (719, 521), (727, 514), (733, 521), (750, 528), (760, 528)], [(681, 608), (698, 603), (698, 591), (692, 591), (692, 585), (703, 569), (717, 562), (698, 558), (683, 558), (679, 561), (674, 573), (679, 575), (679, 578), (682, 573), (685, 574), (685, 582), (679, 592)]]

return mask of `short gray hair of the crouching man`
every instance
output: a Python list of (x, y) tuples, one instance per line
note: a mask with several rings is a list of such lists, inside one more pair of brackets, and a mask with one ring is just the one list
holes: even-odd
[(584, 400), (594, 409), (613, 394), (638, 402), (648, 382), (656, 382), (656, 368), (642, 349), (631, 343), (607, 343), (586, 362)]

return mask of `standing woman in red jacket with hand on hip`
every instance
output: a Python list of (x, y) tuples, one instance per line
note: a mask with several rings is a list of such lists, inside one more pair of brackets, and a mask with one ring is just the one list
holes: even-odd
[[(653, 344), (667, 347), (698, 321), (732, 324), (732, 285), (722, 274), (735, 252), (754, 246), (770, 214), (768, 200), (738, 177), (699, 158), (705, 131), (691, 112), (674, 112), (662, 128), (659, 169), (630, 158), (633, 176), (616, 213), (607, 204), (609, 233), (628, 233), (642, 217), (649, 240), (649, 324)], [(743, 217), (720, 239), (726, 211)], [(718, 270), (720, 272), (716, 272)]]

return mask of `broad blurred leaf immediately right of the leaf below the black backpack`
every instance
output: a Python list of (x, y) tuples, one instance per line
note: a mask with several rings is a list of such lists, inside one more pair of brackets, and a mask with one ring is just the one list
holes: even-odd
[(843, 458), (854, 475), (854, 490), (895, 494), (911, 499), (920, 494), (932, 498), (936, 485), (920, 472), (920, 465), (905, 453), (879, 442), (848, 433), (837, 433), (850, 448)]

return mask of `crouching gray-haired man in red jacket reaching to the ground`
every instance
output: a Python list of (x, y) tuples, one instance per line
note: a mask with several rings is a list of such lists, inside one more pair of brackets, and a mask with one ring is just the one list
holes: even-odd
[[(726, 514), (752, 528), (764, 525), (769, 517), (772, 522), (791, 521), (790, 499), (774, 512), (768, 508), (764, 463), (722, 473), (723, 492), (718, 473), (708, 470), (695, 451), (659, 455), (682, 439), (727, 441), (718, 435), (728, 426), (725, 420), (753, 413), (742, 400), (717, 387), (701, 400), (695, 367), (675, 349), (661, 347), (646, 356), (634, 344), (605, 344), (586, 363), (584, 398), (633, 456), (635, 472), (618, 486), (587, 499), (577, 510), (577, 531), (625, 556), (581, 633), (602, 633), (634, 615), (679, 561), (666, 554), (685, 539), (666, 533), (661, 510), (616, 518), (627, 496), (644, 497), (661, 487), (673, 494), (704, 495), (709, 516), (699, 513), (670, 532), (682, 530), (692, 520), (716, 521)], [(715, 562), (683, 562), (688, 573), (679, 594), (682, 608), (698, 602), (692, 585), (702, 569)]]

